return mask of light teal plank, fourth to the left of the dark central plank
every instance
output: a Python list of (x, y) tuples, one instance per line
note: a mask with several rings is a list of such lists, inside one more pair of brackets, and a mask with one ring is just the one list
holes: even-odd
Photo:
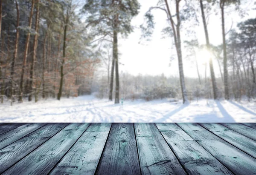
[(27, 123), (0, 135), (0, 149), (28, 135), (46, 123)]

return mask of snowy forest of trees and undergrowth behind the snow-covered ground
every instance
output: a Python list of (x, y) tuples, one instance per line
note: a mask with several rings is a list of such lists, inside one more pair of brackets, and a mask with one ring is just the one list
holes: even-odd
[[(140, 0), (0, 0), (0, 103), (90, 94), (113, 103), (256, 98), (256, 15), (250, 18), (246, 13), (250, 9), (256, 14), (256, 3), (159, 0), (147, 9), (144, 23), (137, 26), (140, 40), (150, 42), (154, 15), (164, 13), (168, 26), (162, 33), (172, 45), (169, 56), (177, 60), (178, 76), (133, 75), (120, 69), (119, 38), (134, 32), (132, 20), (142, 6)], [(226, 25), (230, 11), (244, 20)], [(215, 26), (222, 31), (220, 45), (209, 40), (208, 18), (215, 13), (220, 17)], [(193, 31), (199, 23), (204, 43)], [(186, 77), (185, 62), (196, 67), (197, 77)], [(204, 71), (198, 68), (201, 63)]]

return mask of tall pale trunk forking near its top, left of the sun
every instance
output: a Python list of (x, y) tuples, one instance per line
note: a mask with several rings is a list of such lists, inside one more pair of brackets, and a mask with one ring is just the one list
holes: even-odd
[[(168, 12), (169, 20), (172, 24), (172, 30), (174, 33), (174, 41), (175, 41), (175, 48), (177, 51), (177, 57), (178, 57), (178, 64), (179, 64), (179, 74), (180, 74), (180, 86), (181, 86), (181, 92), (182, 92), (182, 98), (183, 98), (183, 103), (188, 103), (188, 97), (186, 93), (186, 87), (185, 87), (185, 78), (184, 78), (184, 73), (183, 73), (183, 63), (182, 63), (182, 53), (181, 53), (181, 42), (180, 42), (180, 11), (179, 11), (179, 0), (176, 0), (176, 17), (177, 17), (177, 24), (176, 24), (176, 29), (175, 29), (175, 24), (172, 19), (172, 14), (169, 9), (169, 5), (167, 0), (165, 0), (166, 3), (166, 9)], [(177, 34), (176, 34), (177, 30)]]

